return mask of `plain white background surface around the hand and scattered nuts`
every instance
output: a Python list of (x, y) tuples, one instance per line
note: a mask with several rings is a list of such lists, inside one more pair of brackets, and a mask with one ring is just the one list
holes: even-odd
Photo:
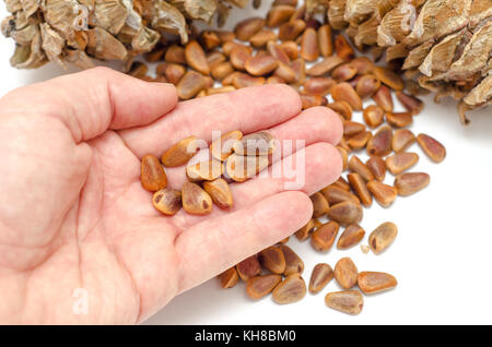
[[(259, 12), (234, 11), (227, 26), (253, 13), (263, 15), (271, 1)], [(7, 11), (0, 5), (0, 16)], [(30, 83), (63, 73), (49, 64), (35, 71), (10, 67), (13, 41), (0, 35), (0, 96)], [(75, 70), (71, 70), (75, 71)], [(77, 86), (74, 86), (77, 87)], [(366, 296), (363, 312), (345, 315), (325, 307), (328, 291), (340, 290), (332, 280), (316, 296), (301, 302), (277, 306), (270, 297), (249, 300), (244, 284), (222, 290), (211, 279), (172, 301), (147, 323), (152, 324), (426, 324), (492, 323), (490, 297), (492, 276), (491, 169), (492, 108), (470, 113), (471, 124), (462, 127), (450, 99), (442, 105), (425, 97), (425, 110), (415, 117), (411, 130), (435, 136), (447, 148), (447, 158), (432, 164), (415, 145), (420, 163), (413, 171), (431, 175), (424, 191), (398, 198), (390, 208), (376, 202), (365, 210), (362, 226), (366, 237), (380, 223), (391, 220), (399, 227), (395, 243), (383, 254), (363, 254), (359, 247), (348, 251), (333, 249), (327, 254), (315, 252), (309, 242), (295, 238), (289, 244), (305, 262), (304, 278), (309, 280), (315, 264), (331, 266), (341, 256), (351, 256), (360, 271), (384, 271), (394, 274), (399, 285), (379, 295)], [(360, 115), (355, 120), (361, 120)], [(388, 179), (393, 183), (393, 178)]]

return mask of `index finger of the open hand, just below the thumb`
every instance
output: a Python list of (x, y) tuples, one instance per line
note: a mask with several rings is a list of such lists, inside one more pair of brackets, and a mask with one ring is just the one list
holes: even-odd
[(161, 156), (190, 135), (210, 142), (213, 131), (247, 134), (282, 123), (300, 111), (301, 99), (292, 87), (263, 85), (179, 103), (153, 124), (121, 131), (120, 135), (139, 157)]

